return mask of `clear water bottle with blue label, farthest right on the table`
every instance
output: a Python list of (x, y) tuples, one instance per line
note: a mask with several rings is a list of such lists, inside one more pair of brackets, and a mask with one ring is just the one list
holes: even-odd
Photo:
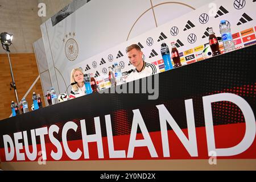
[(223, 42), (223, 47), (225, 52), (230, 52), (236, 50), (236, 47), (233, 42), (232, 34), (230, 27), (226, 25), (226, 20), (221, 20), (220, 27), (221, 39)]

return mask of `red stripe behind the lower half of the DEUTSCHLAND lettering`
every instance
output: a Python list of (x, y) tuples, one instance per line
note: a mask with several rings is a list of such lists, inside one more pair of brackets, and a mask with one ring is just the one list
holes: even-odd
[[(183, 133), (188, 136), (188, 130), (183, 129)], [(217, 125), (214, 126), (214, 136), (215, 136), (215, 146), (216, 148), (229, 148), (234, 147), (239, 144), (245, 135), (245, 123), (236, 123), (229, 125)], [(150, 137), (152, 143), (154, 144), (156, 153), (158, 154), (157, 158), (152, 158), (150, 152), (147, 147), (135, 147), (133, 158), (119, 158), (112, 159), (109, 158), (109, 148), (107, 138), (102, 138), (103, 148), (104, 148), (104, 159), (98, 159), (98, 150), (96, 142), (89, 143), (89, 159), (84, 159), (82, 140), (73, 140), (68, 141), (68, 146), (71, 151), (77, 151), (79, 148), (82, 152), (81, 157), (78, 160), (150, 160), (150, 159), (209, 159), (208, 156), (208, 148), (207, 148), (207, 137), (206, 137), (205, 127), (197, 127), (196, 128), (196, 138), (197, 138), (197, 157), (191, 157), (180, 142), (177, 135), (173, 130), (168, 130), (168, 143), (170, 148), (170, 157), (163, 157), (163, 149), (162, 149), (162, 139), (160, 131), (151, 132)], [(143, 139), (142, 134), (137, 134), (136, 139)], [(114, 150), (125, 150), (125, 154), (127, 157), (127, 151), (129, 147), (130, 135), (120, 135), (113, 137), (114, 141)], [(167, 141), (164, 141), (167, 142)], [(63, 149), (63, 155), (60, 159), (61, 161), (72, 160), (70, 159), (64, 151), (63, 144), (61, 142), (61, 146)], [(196, 146), (193, 146), (196, 147)], [(29, 146), (30, 151), (32, 151), (32, 146)], [(41, 150), (40, 144), (37, 145), (38, 151)], [(10, 150), (10, 149), (9, 149)], [(52, 143), (46, 144), (46, 155), (47, 161), (53, 161), (54, 159), (51, 157), (51, 152), (56, 152), (56, 147), (53, 146)], [(238, 155), (233, 156), (217, 156), (217, 159), (256, 159), (256, 141), (254, 138), (253, 143), (246, 151), (242, 152)], [(24, 152), (24, 147), (20, 152)], [(6, 162), (5, 158), (5, 150), (4, 148), (0, 149), (0, 157), (2, 162)], [(25, 155), (26, 156), (26, 155)], [(25, 157), (25, 161), (28, 162), (27, 156)], [(35, 161), (42, 159), (42, 156), (38, 156)], [(12, 162), (16, 162), (16, 154), (14, 156), (14, 160)]]

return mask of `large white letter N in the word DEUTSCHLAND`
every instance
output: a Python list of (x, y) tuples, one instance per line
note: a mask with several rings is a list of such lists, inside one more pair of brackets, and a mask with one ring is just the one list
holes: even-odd
[(160, 129), (161, 136), (163, 142), (163, 154), (164, 157), (170, 157), (170, 149), (168, 142), (168, 134), (167, 134), (167, 125), (166, 122), (172, 127), (172, 130), (180, 139), (181, 143), (187, 149), (191, 156), (198, 156), (197, 154), (197, 143), (196, 143), (196, 127), (195, 127), (195, 119), (193, 113), (193, 102), (192, 99), (185, 100), (185, 108), (186, 108), (186, 116), (187, 116), (187, 125), (188, 125), (188, 138), (185, 136), (183, 131), (175, 122), (172, 115), (168, 112), (166, 107), (162, 105), (156, 106), (159, 110), (159, 120), (160, 120)]

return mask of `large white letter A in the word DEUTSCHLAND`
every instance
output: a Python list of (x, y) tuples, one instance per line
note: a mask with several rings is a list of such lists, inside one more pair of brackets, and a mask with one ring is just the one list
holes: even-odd
[[(127, 158), (133, 158), (133, 152), (135, 147), (147, 147), (151, 157), (157, 158), (158, 154), (156, 154), (154, 144), (152, 143), (152, 140), (147, 131), (147, 127), (143, 121), (142, 115), (139, 112), (139, 109), (133, 110), (133, 114), (133, 124), (131, 125), (131, 135)], [(138, 126), (141, 129), (141, 133), (144, 139), (136, 140)]]

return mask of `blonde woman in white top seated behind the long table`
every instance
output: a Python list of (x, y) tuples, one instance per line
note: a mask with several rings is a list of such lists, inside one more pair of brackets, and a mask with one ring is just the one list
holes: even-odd
[(69, 98), (73, 99), (73, 98), (85, 96), (84, 73), (82, 73), (80, 68), (72, 69), (70, 80), (71, 80), (71, 83), (77, 82), (77, 84), (72, 86)]

